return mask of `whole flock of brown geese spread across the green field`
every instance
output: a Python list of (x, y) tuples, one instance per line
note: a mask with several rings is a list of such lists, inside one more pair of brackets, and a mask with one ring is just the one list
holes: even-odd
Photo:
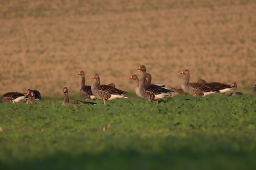
[[(137, 75), (131, 75), (128, 79), (135, 80), (136, 87), (135, 93), (138, 97), (147, 99), (148, 101), (155, 100), (158, 103), (159, 99), (163, 99), (165, 97), (174, 97), (178, 94), (186, 95), (187, 93), (195, 96), (205, 96), (208, 94), (216, 94), (216, 93), (228, 93), (232, 92), (229, 95), (241, 95), (241, 92), (237, 92), (237, 83), (233, 82), (231, 85), (212, 82), (206, 83), (205, 80), (199, 79), (197, 82), (190, 83), (190, 73), (189, 70), (184, 69), (179, 74), (185, 76), (185, 80), (181, 85), (180, 89), (176, 89), (174, 87), (165, 87), (163, 84), (151, 84), (152, 76), (146, 72), (146, 67), (144, 65), (136, 68), (137, 70), (142, 71), (141, 79), (138, 78)], [(95, 100), (100, 99), (103, 100), (104, 105), (107, 100), (113, 100), (117, 98), (126, 98), (124, 94), (128, 93), (123, 90), (120, 90), (115, 87), (115, 84), (111, 83), (109, 85), (101, 85), (99, 74), (93, 74), (90, 79), (95, 79), (95, 82), (92, 85), (85, 85), (85, 74), (84, 71), (79, 71), (77, 75), (81, 76), (81, 83), (79, 86), (80, 94), (86, 101), (82, 100), (73, 100), (69, 101), (68, 96), (68, 88), (63, 88), (63, 93), (65, 98), (62, 102), (63, 105), (66, 103), (71, 104), (91, 104), (96, 105), (95, 102), (87, 102), (87, 100)], [(256, 94), (256, 85), (254, 85), (253, 90)], [(27, 89), (27, 93), (18, 93), (18, 92), (9, 92), (5, 93), (1, 96), (1, 102), (20, 102), (26, 101), (26, 103), (35, 103), (36, 100), (41, 100), (41, 94), (37, 90)]]

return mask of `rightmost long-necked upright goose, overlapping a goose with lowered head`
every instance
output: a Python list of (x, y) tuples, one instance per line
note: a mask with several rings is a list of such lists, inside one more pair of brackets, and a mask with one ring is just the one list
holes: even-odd
[(189, 83), (189, 70), (185, 69), (179, 74), (185, 75), (185, 81), (182, 83), (182, 89), (184, 92), (188, 92), (195, 96), (205, 96), (207, 94), (215, 94), (218, 93), (219, 91), (216, 90), (214, 87), (209, 86), (209, 85), (204, 85), (201, 83)]

